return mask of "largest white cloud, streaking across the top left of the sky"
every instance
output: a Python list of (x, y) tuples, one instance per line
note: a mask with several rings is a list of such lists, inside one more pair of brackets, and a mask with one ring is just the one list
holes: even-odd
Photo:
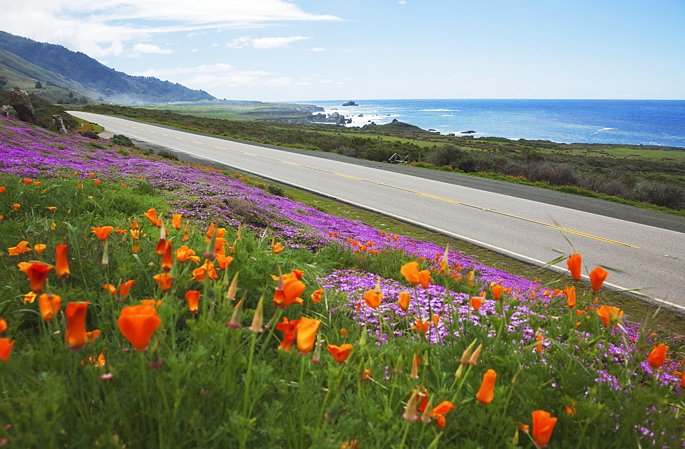
[(148, 42), (160, 34), (183, 33), (189, 38), (208, 29), (341, 20), (303, 11), (288, 0), (203, 0), (192, 5), (185, 0), (99, 0), (78, 4), (72, 0), (32, 0), (9, 2), (2, 9), (3, 31), (61, 44), (96, 58), (124, 53), (123, 47)]

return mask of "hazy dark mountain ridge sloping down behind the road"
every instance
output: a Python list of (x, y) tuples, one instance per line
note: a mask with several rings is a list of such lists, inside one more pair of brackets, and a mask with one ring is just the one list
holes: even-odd
[[(38, 84), (42, 88), (37, 88)], [(90, 101), (155, 105), (216, 100), (203, 90), (134, 77), (109, 68), (88, 55), (61, 45), (36, 42), (0, 31), (0, 88), (30, 87), (53, 103)], [(34, 90), (36, 86), (36, 90)]]

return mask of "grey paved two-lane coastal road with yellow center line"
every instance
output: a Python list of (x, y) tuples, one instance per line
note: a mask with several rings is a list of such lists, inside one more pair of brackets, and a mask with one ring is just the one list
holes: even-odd
[(640, 289), (657, 302), (685, 309), (685, 220), (680, 217), (528, 186), (71, 114), (113, 133), (339, 198), (536, 264), (557, 257), (553, 249), (581, 253), (590, 270), (597, 265), (619, 270), (609, 274), (611, 287)]

